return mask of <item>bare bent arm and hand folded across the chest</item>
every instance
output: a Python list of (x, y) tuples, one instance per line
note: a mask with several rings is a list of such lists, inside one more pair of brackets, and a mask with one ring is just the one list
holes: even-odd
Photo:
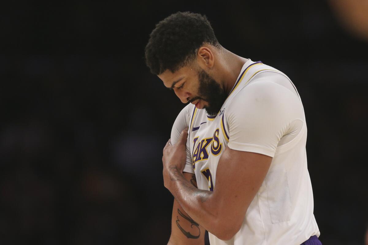
[(219, 239), (229, 240), (240, 229), (272, 158), (226, 148), (217, 166), (216, 188), (198, 190), (183, 176), (187, 136), (184, 129), (175, 145), (169, 140), (164, 147), (164, 185), (193, 220)]

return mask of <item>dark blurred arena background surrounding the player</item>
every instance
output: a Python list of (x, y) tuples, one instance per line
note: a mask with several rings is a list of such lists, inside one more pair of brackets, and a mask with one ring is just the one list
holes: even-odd
[(0, 244), (166, 244), (162, 148), (184, 105), (144, 47), (176, 11), (205, 14), (222, 46), (293, 80), (320, 240), (364, 244), (368, 4), (348, 2), (2, 3)]

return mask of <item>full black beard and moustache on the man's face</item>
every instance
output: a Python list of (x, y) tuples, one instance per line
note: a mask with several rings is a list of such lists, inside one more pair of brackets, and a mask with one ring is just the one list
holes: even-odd
[(203, 69), (198, 72), (199, 79), (199, 96), (193, 98), (191, 101), (202, 99), (208, 103), (204, 107), (207, 114), (210, 116), (216, 116), (220, 111), (222, 105), (224, 104), (227, 93), (220, 86), (219, 83), (216, 82), (210, 75), (208, 75)]

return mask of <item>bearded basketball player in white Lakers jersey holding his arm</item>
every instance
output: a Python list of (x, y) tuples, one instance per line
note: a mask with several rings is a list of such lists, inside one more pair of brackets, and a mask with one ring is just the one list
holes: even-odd
[(169, 244), (204, 244), (205, 230), (211, 245), (321, 244), (290, 79), (226, 50), (190, 12), (160, 21), (145, 51), (151, 72), (190, 102), (163, 150), (175, 198)]

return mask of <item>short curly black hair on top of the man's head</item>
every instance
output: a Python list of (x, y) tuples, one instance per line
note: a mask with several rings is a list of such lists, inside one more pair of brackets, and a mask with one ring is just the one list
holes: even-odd
[(160, 21), (145, 48), (146, 64), (153, 74), (175, 72), (191, 61), (204, 43), (220, 47), (205, 15), (177, 12)]

